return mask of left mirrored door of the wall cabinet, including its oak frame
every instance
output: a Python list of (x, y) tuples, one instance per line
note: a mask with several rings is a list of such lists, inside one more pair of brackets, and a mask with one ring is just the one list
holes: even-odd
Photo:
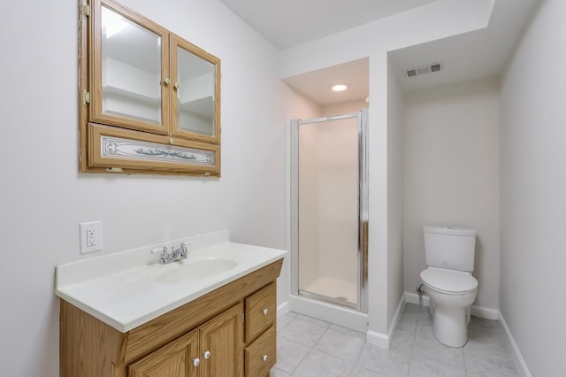
[[(95, 17), (100, 18), (99, 39), (94, 53), (96, 70), (93, 121), (115, 123), (122, 127), (166, 134), (169, 114), (167, 96), (171, 81), (166, 62), (166, 31), (128, 18), (119, 6), (102, 4)], [(165, 41), (164, 41), (165, 38)], [(98, 53), (96, 53), (98, 52)]]

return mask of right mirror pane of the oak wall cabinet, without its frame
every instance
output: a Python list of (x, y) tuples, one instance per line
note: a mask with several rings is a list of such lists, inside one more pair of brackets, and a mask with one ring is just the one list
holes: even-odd
[(178, 47), (177, 128), (214, 136), (216, 66)]

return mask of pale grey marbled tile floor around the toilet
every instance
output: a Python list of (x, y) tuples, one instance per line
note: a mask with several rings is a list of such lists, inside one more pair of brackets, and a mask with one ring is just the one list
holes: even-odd
[(463, 348), (432, 335), (428, 307), (405, 304), (389, 350), (365, 334), (288, 312), (278, 319), (272, 377), (519, 377), (501, 323), (472, 317)]

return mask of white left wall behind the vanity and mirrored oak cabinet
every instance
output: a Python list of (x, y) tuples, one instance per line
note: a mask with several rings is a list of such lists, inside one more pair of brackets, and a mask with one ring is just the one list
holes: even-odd
[[(103, 221), (104, 253), (223, 228), (236, 242), (286, 246), (286, 106), (299, 108), (302, 100), (279, 81), (277, 51), (218, 1), (122, 2), (222, 59), (222, 178), (78, 173), (77, 2), (5, 4), (0, 15), (0, 35), (6, 36), (0, 59), (5, 376), (58, 375), (53, 272), (55, 265), (81, 258), (80, 221)], [(287, 285), (286, 277), (279, 287)]]

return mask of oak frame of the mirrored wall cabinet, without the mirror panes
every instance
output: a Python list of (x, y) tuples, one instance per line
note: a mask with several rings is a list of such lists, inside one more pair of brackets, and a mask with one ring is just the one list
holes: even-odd
[[(220, 60), (112, 0), (84, 1), (79, 20), (80, 172), (219, 176)], [(160, 37), (159, 122), (103, 112), (102, 7)], [(177, 125), (178, 47), (214, 67), (211, 135)]]

